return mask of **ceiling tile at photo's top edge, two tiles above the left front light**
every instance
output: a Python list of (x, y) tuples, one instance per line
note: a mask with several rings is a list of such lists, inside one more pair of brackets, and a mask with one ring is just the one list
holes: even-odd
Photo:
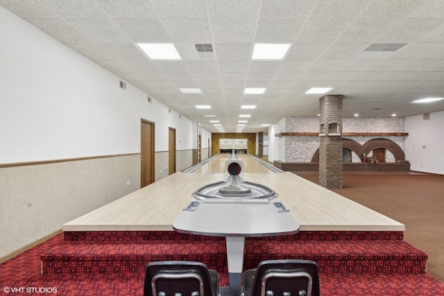
[[(83, 1), (83, 0), (78, 0)], [(146, 0), (94, 0), (110, 17), (129, 19), (153, 19), (157, 17)]]

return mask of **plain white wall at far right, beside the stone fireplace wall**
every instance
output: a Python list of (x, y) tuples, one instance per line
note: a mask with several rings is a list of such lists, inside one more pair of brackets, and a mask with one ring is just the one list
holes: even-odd
[(405, 118), (405, 155), (411, 171), (444, 175), (444, 111)]

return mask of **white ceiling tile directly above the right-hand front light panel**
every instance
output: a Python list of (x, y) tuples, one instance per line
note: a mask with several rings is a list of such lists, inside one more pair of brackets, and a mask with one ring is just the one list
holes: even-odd
[(304, 19), (259, 19), (256, 30), (256, 43), (291, 43)]

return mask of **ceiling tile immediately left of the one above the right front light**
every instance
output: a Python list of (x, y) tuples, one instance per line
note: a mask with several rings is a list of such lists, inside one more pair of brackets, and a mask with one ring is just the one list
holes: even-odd
[(252, 43), (255, 19), (210, 19), (214, 43)]

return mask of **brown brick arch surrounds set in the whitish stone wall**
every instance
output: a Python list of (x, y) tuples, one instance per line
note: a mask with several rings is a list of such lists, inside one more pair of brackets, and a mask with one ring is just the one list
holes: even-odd
[[(342, 148), (347, 148), (352, 150), (354, 153), (356, 153), (360, 158), (364, 156), (364, 153), (368, 155), (370, 151), (373, 151), (377, 148), (385, 148), (391, 153), (393, 153), (393, 156), (395, 157), (395, 160), (405, 160), (405, 155), (400, 146), (395, 143), (394, 141), (391, 141), (389, 139), (372, 139), (370, 141), (367, 141), (364, 143), (364, 145), (361, 145), (357, 141), (354, 141), (352, 139), (342, 139)], [(311, 157), (311, 162), (319, 162), (319, 148), (314, 153), (313, 157)]]

